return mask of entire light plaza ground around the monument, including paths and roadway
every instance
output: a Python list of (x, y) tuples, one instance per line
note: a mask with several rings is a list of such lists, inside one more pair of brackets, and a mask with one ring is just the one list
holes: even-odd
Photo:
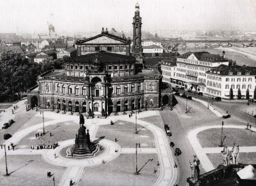
[[(32, 184), (31, 181), (21, 176), (31, 178), (33, 174), (36, 176), (34, 180), (37, 185), (50, 185), (52, 177), (47, 178), (47, 171), (54, 174), (55, 185), (59, 186), (68, 186), (70, 179), (75, 182), (75, 185), (93, 183), (95, 185), (129, 185), (129, 183), (156, 186), (187, 185), (186, 178), (191, 174), (188, 162), (193, 154), (196, 154), (201, 161), (201, 174), (215, 169), (216, 165), (222, 163), (218, 157), (223, 148), (212, 146), (212, 144), (207, 146), (203, 141), (204, 138), (208, 139), (207, 133), (204, 134), (204, 132), (221, 129), (219, 124), (223, 119), (221, 112), (214, 107), (215, 105), (207, 109), (207, 102), (189, 100), (188, 104), (192, 106), (192, 109), (185, 113), (186, 99), (179, 97), (177, 99), (179, 104), (172, 111), (164, 108), (162, 111), (150, 110), (137, 113), (138, 134), (135, 134), (135, 113), (131, 118), (127, 114), (108, 116), (106, 119), (85, 119), (85, 126), (90, 131), (91, 141), (96, 142), (98, 149), (100, 147), (103, 149), (98, 155), (85, 158), (63, 155), (65, 149), (75, 142), (75, 134), (79, 128), (79, 116), (45, 111), (46, 134), (42, 137), (35, 137), (36, 133), (41, 134), (43, 131), (42, 114), (35, 110), (26, 112), (24, 100), (19, 103), (14, 114), (11, 113), (11, 108), (6, 109), (4, 117), (3, 112), (1, 113), (1, 118), (5, 119), (4, 122), (9, 118), (15, 119), (13, 126), (7, 129), (13, 130), (8, 131), (13, 133), (12, 137), (4, 141), (0, 139), (1, 144), (9, 145), (11, 142), (15, 144), (14, 151), (12, 149), (6, 151), (11, 174), (9, 177), (4, 177), (5, 169), (0, 170), (2, 185), (12, 185), (12, 180), (15, 185), (17, 185), (17, 180), (20, 180), (20, 185)], [(198, 115), (198, 113), (201, 114)], [(208, 117), (205, 118), (205, 116)], [(26, 122), (21, 124), (17, 120), (20, 117)], [(111, 120), (114, 125), (110, 125)], [(236, 118), (224, 120), (224, 129), (246, 130), (244, 123), (240, 124), (234, 120)], [(170, 126), (172, 137), (166, 136), (164, 124)], [(256, 128), (253, 126), (250, 131), (256, 132)], [(2, 130), (1, 134), (4, 132)], [(49, 133), (52, 133), (51, 137)], [(175, 143), (174, 148), (169, 145), (171, 141)], [(32, 150), (30, 148), (31, 145), (54, 142), (58, 142), (59, 145), (55, 149)], [(135, 175), (135, 143), (138, 142), (140, 142), (140, 148), (137, 148), (138, 170), (141, 169), (141, 171), (139, 175)], [(239, 147), (241, 154), (255, 154), (256, 145), (253, 143), (254, 141), (241, 145)], [(181, 149), (182, 154), (175, 157), (174, 150), (177, 147)], [(232, 148), (231, 145), (230, 148)], [(253, 158), (254, 155), (251, 157)], [(177, 168), (174, 168), (175, 162), (178, 165)], [(4, 149), (0, 149), (0, 164), (1, 167), (5, 167)], [(25, 171), (27, 169), (29, 171)]]

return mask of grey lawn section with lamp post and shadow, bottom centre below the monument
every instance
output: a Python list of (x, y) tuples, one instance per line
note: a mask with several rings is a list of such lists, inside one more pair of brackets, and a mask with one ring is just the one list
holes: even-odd
[[(145, 163), (149, 160), (146, 165)], [(145, 165), (145, 166), (144, 166)], [(144, 167), (143, 167), (144, 166)], [(93, 167), (85, 167), (79, 181), (81, 186), (150, 186), (159, 176), (157, 154), (138, 154), (137, 167), (139, 175), (135, 175), (135, 154), (120, 154), (116, 159)], [(154, 168), (157, 170), (154, 173)]]

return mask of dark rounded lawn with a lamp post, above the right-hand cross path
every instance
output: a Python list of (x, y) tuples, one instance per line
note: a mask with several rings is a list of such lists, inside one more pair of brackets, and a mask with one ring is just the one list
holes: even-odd
[[(255, 146), (256, 132), (240, 128), (223, 128), (224, 143), (229, 147), (234, 143), (239, 146)], [(205, 147), (218, 147), (221, 141), (221, 128), (211, 128), (197, 134), (198, 141)]]

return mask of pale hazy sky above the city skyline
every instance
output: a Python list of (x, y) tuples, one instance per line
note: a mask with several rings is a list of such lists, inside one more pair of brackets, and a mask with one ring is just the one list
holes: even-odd
[[(132, 30), (137, 0), (0, 0), (0, 32)], [(256, 0), (138, 0), (142, 30), (256, 31)]]

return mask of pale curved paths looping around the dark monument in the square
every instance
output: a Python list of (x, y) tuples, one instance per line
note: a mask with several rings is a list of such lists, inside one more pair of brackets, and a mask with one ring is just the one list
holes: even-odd
[[(152, 154), (157, 153), (158, 160), (160, 163), (160, 173), (159, 177), (157, 178), (154, 185), (156, 186), (172, 186), (175, 184), (177, 180), (177, 169), (174, 168), (174, 157), (171, 153), (169, 142), (166, 138), (165, 132), (149, 123), (140, 120), (140, 118), (148, 117), (148, 116), (154, 116), (159, 115), (158, 111), (145, 111), (141, 112), (137, 115), (137, 124), (145, 126), (149, 131), (151, 131), (154, 135), (154, 141), (156, 148), (140, 148), (138, 153), (146, 153), (146, 154)], [(36, 116), (41, 116), (40, 114), (37, 114)], [(60, 114), (60, 113), (53, 113), (53, 112), (45, 112), (44, 114), (45, 118), (54, 119), (49, 122), (44, 122), (44, 125), (56, 125), (60, 122), (67, 122), (67, 121), (75, 121), (79, 122), (78, 117), (79, 116), (72, 116), (67, 114)], [(96, 134), (99, 128), (99, 125), (109, 125), (110, 121), (117, 121), (117, 120), (123, 120), (127, 122), (134, 122), (135, 123), (135, 117), (129, 118), (128, 115), (119, 115), (119, 116), (109, 116), (107, 119), (87, 119), (88, 125), (87, 128), (89, 128), (91, 139), (96, 139)], [(42, 128), (43, 123), (39, 123), (36, 125), (33, 125), (31, 127), (25, 128), (23, 130), (17, 131), (12, 138), (6, 140), (6, 145), (9, 145), (10, 142), (13, 142), (14, 144), (17, 144), (23, 137), (25, 137), (27, 134), (29, 134), (32, 131), (36, 131), (40, 128)], [(66, 157), (62, 157), (60, 155), (60, 150), (64, 148), (65, 146), (73, 144), (74, 139), (69, 139), (66, 141), (59, 142), (59, 147), (55, 149), (43, 149), (43, 150), (31, 150), (31, 149), (18, 149), (15, 151), (7, 151), (7, 154), (42, 154), (42, 157), (44, 160), (46, 160), (48, 163), (51, 163), (53, 165), (57, 166), (65, 166), (67, 167), (61, 182), (59, 183), (59, 186), (68, 186), (70, 179), (72, 179), (76, 184), (78, 185), (78, 182), (80, 180), (81, 174), (84, 170), (84, 167), (86, 166), (94, 166), (99, 165), (102, 163), (102, 159), (104, 159), (106, 162), (113, 160), (114, 158), (118, 157), (121, 153), (124, 154), (135, 154), (135, 148), (122, 148), (120, 145), (118, 145), (116, 142), (113, 142), (111, 140), (102, 139), (100, 140), (99, 144), (104, 146), (105, 152), (99, 157), (92, 157), (92, 159), (80, 159), (80, 160), (72, 160), (68, 159)], [(117, 152), (115, 152), (117, 150)], [(54, 154), (56, 154), (57, 158), (54, 157)], [(4, 156), (4, 150), (0, 149), (0, 158)]]

